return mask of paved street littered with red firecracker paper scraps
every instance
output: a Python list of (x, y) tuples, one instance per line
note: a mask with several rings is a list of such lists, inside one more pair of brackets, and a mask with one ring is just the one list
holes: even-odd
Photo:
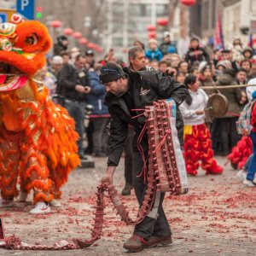
[[(114, 184), (119, 192), (124, 185), (123, 159), (116, 171)], [(218, 158), (224, 166), (225, 159)], [(96, 184), (105, 171), (106, 159), (97, 158), (95, 169), (72, 173), (63, 188), (61, 208), (46, 215), (32, 216), (31, 201), (16, 203), (14, 208), (0, 210), (6, 236), (15, 234), (28, 243), (52, 244), (62, 238), (89, 238)], [(30, 195), (31, 196), (31, 195)], [(189, 177), (189, 194), (167, 196), (166, 215), (172, 225), (173, 244), (146, 249), (139, 255), (255, 255), (256, 189), (245, 188), (230, 165), (222, 176), (206, 176), (200, 171)], [(29, 198), (31, 199), (31, 197)], [(135, 217), (134, 192), (122, 197)], [(123, 242), (132, 232), (108, 205), (102, 239), (84, 250), (62, 252), (22, 252), (0, 249), (0, 255), (127, 255)]]

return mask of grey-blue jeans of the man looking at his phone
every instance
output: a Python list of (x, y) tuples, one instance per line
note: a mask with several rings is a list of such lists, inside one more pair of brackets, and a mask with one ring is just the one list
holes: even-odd
[(67, 112), (74, 119), (76, 124), (76, 131), (79, 134), (78, 148), (79, 156), (84, 154), (83, 148), (83, 136), (84, 136), (84, 114), (85, 114), (85, 102), (65, 102), (65, 108)]

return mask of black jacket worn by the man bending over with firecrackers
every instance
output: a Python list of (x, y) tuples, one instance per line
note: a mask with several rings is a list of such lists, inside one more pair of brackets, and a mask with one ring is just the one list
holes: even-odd
[[(126, 93), (131, 95), (133, 108), (145, 108), (154, 101), (170, 97), (178, 106), (188, 96), (189, 92), (183, 84), (176, 84), (171, 77), (157, 71), (131, 72), (129, 68), (125, 68), (124, 71), (129, 77), (129, 91)], [(143, 128), (145, 118), (131, 119), (132, 115), (142, 112), (132, 112), (131, 105), (129, 108), (125, 102), (125, 95), (118, 97), (108, 92), (105, 104), (111, 115), (108, 166), (118, 166), (127, 137), (128, 124), (135, 127), (133, 150), (137, 151), (137, 137)], [(178, 108), (176, 126), (179, 141), (183, 145), (183, 118)], [(142, 146), (148, 151), (147, 134), (143, 137)]]

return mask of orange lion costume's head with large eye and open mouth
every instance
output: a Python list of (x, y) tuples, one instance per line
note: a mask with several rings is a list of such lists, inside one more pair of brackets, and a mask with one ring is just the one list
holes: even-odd
[(49, 32), (36, 20), (13, 15), (0, 24), (0, 91), (19, 89), (44, 67), (51, 46)]

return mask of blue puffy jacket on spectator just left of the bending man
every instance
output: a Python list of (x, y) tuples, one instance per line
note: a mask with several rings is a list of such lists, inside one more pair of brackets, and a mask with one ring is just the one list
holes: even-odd
[(104, 104), (106, 96), (106, 88), (100, 82), (96, 72), (90, 71), (87, 73), (88, 84), (90, 85), (90, 93), (86, 94), (86, 102), (93, 106), (91, 115), (108, 114), (108, 107)]

